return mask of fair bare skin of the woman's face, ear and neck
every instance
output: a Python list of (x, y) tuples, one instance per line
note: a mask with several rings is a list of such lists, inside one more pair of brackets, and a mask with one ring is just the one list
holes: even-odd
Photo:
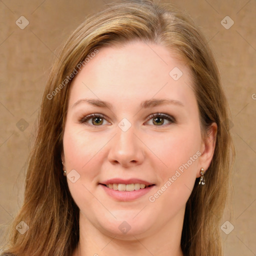
[[(169, 75), (173, 67), (183, 72), (176, 81)], [(184, 62), (162, 45), (141, 41), (100, 48), (72, 80), (62, 160), (67, 174), (75, 169), (80, 175), (74, 183), (67, 178), (80, 209), (79, 255), (182, 255), (185, 203), (200, 168), (206, 170), (210, 164), (216, 134), (213, 123), (208, 136), (201, 137), (191, 87), (191, 74)], [(104, 100), (112, 108), (87, 102), (72, 107), (82, 98)], [(172, 103), (141, 108), (143, 100), (152, 98), (178, 100), (183, 106)], [(103, 114), (102, 124), (95, 125), (95, 119), (79, 122), (91, 113)], [(148, 118), (152, 113), (166, 113), (175, 121), (158, 118), (162, 125), (156, 125), (154, 118)], [(131, 124), (127, 131), (118, 126), (124, 117)], [(150, 202), (148, 197), (197, 151), (201, 155)], [(118, 201), (98, 185), (113, 177), (140, 178), (155, 186), (135, 200)], [(123, 221), (130, 226), (125, 234), (118, 228)]]

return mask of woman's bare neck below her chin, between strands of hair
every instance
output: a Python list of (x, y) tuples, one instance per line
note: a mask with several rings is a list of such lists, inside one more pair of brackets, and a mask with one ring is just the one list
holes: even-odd
[[(183, 213), (177, 214), (157, 230), (150, 230), (147, 234), (130, 232), (125, 237), (96, 228), (80, 213), (78, 255), (110, 256), (118, 252), (122, 256), (183, 256), (180, 247)], [(77, 251), (73, 256), (76, 255)]]

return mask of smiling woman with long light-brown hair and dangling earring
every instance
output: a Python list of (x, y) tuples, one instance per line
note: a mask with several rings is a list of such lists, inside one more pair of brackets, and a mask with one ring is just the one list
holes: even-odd
[(181, 12), (125, 1), (87, 18), (51, 69), (5, 255), (222, 255), (228, 121)]

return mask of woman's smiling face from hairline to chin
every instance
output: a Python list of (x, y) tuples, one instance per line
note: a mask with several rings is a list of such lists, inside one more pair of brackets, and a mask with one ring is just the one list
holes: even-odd
[(71, 83), (63, 136), (80, 223), (122, 238), (182, 225), (210, 163), (189, 69), (161, 45), (98, 50)]

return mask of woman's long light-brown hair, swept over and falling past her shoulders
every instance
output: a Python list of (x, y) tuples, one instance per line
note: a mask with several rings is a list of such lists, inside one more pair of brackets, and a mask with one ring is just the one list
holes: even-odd
[[(234, 150), (218, 69), (205, 38), (190, 18), (170, 4), (155, 4), (151, 0), (111, 4), (89, 16), (61, 48), (43, 94), (37, 136), (29, 155), (24, 202), (10, 228), (5, 253), (70, 256), (74, 251), (79, 240), (79, 209), (61, 165), (71, 81), (66, 77), (93, 51), (135, 39), (164, 45), (188, 64), (202, 136), (210, 124), (217, 124), (215, 151), (205, 173), (207, 182), (198, 186), (196, 179), (186, 203), (181, 249), (185, 256), (222, 255), (219, 221), (230, 187)], [(15, 229), (20, 221), (29, 226), (24, 234)]]

